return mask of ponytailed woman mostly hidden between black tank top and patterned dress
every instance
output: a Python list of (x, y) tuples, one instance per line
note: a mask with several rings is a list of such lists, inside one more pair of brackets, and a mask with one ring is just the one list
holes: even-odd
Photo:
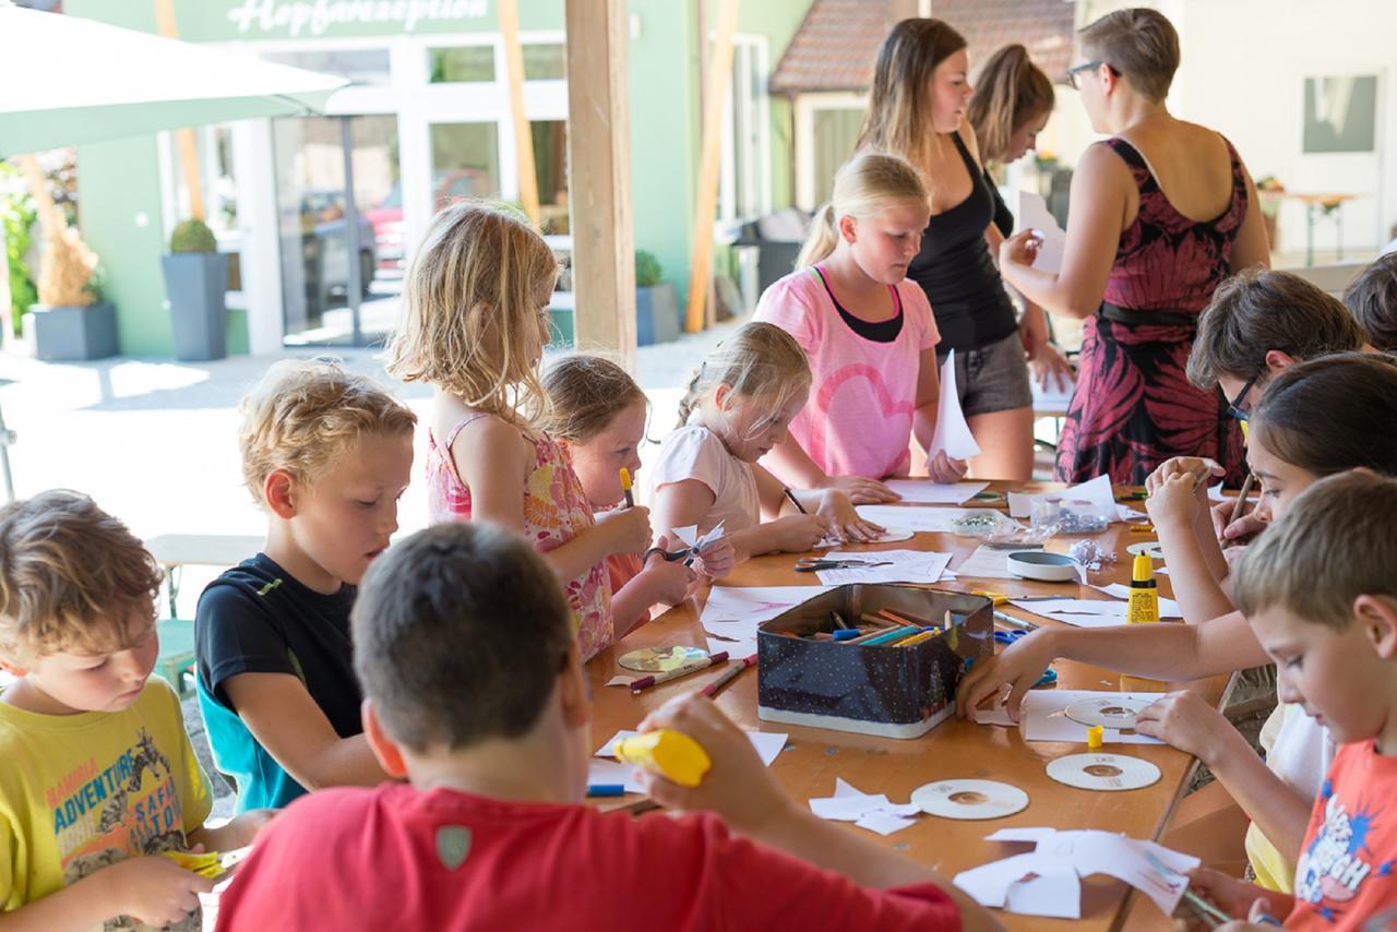
[[(975, 81), (967, 119), (975, 130), (985, 183), (995, 198), (995, 229), (1000, 236), (1009, 236), (1014, 231), (1014, 215), (999, 196), (992, 169), (1014, 162), (1028, 150), (1037, 148), (1038, 134), (1048, 124), (1053, 103), (1052, 81), (1032, 63), (1028, 49), (1021, 45), (1006, 45), (989, 56)], [(1048, 388), (1049, 377), (1055, 387), (1071, 386), (1071, 367), (1051, 342), (1048, 317), (1042, 307), (1025, 302), (1018, 335), (1024, 341), (1028, 367), (1042, 388)]]

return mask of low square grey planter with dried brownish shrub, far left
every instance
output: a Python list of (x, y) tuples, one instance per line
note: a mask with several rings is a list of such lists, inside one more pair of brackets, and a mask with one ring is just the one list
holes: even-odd
[(96, 261), (73, 226), (45, 236), (39, 303), (27, 317), (36, 358), (74, 362), (116, 355), (116, 309), (101, 299)]

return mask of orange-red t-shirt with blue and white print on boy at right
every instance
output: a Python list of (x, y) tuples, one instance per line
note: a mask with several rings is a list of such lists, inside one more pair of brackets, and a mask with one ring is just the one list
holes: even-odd
[(1362, 929), (1397, 908), (1397, 757), (1343, 745), (1315, 798), (1285, 928)]

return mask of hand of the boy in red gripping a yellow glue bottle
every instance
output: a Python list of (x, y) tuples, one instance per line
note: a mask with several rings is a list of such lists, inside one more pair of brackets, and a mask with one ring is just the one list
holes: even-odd
[(710, 809), (738, 831), (752, 834), (766, 820), (789, 813), (795, 803), (763, 766), (747, 736), (717, 706), (687, 693), (669, 700), (640, 722), (640, 731), (673, 728), (708, 753), (712, 769), (697, 787), (680, 787), (640, 771), (650, 798), (669, 809)]

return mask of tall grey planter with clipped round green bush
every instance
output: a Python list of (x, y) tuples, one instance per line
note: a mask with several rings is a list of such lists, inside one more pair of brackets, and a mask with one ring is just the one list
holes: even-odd
[(228, 256), (218, 252), (214, 231), (187, 219), (170, 233), (170, 252), (161, 260), (170, 303), (175, 358), (183, 362), (228, 355)]

